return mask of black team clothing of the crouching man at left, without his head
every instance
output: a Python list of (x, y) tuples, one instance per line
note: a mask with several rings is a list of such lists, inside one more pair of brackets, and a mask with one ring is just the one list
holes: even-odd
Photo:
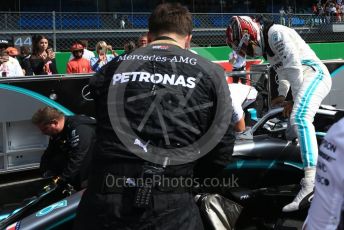
[(95, 143), (95, 119), (66, 116), (63, 130), (52, 136), (40, 164), (44, 176), (60, 176), (76, 189), (85, 187)]

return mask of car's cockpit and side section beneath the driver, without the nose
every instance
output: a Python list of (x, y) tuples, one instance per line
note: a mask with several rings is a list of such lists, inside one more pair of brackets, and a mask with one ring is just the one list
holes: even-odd
[[(233, 161), (221, 176), (237, 182), (236, 187), (220, 192), (243, 207), (236, 229), (300, 229), (306, 218), (312, 196), (299, 211), (281, 212), (297, 195), (304, 177), (299, 144), (296, 138), (287, 138), (288, 120), (281, 116), (282, 111), (270, 110), (238, 138)], [(331, 106), (318, 110), (314, 121), (318, 144), (341, 117), (343, 111)]]

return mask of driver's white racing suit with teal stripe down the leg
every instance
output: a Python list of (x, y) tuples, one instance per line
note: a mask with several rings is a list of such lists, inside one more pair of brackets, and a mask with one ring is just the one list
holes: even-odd
[(262, 37), (268, 39), (267, 60), (278, 74), (279, 95), (286, 97), (292, 90), (290, 123), (299, 139), (303, 166), (315, 167), (318, 145), (313, 120), (330, 92), (330, 73), (295, 30), (274, 24)]

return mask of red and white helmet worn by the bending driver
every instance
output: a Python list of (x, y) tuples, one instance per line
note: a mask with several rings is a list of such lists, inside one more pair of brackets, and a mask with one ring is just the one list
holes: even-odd
[(242, 51), (252, 57), (262, 55), (259, 51), (262, 49), (260, 27), (251, 17), (233, 16), (227, 27), (226, 41), (235, 51)]

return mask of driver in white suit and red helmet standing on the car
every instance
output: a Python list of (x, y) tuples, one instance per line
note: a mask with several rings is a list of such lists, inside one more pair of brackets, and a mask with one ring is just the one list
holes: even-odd
[[(284, 212), (296, 211), (314, 188), (318, 145), (313, 120), (322, 100), (331, 89), (326, 66), (298, 33), (288, 27), (246, 16), (232, 17), (227, 28), (227, 43), (248, 56), (264, 56), (279, 77), (279, 96), (272, 104), (283, 103), (284, 114), (298, 136), (305, 177), (301, 190)], [(291, 86), (294, 103), (284, 102)]]

